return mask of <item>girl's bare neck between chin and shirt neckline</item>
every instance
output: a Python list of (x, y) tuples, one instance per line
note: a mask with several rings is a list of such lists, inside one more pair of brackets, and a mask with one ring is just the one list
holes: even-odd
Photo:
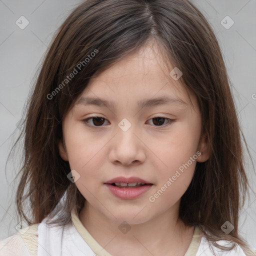
[(180, 256), (191, 242), (194, 227), (178, 218), (178, 207), (179, 202), (148, 221), (129, 225), (110, 220), (85, 201), (79, 219), (111, 255)]

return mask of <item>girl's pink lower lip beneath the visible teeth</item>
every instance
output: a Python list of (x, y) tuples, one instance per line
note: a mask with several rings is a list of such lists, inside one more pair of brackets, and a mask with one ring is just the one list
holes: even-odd
[(111, 184), (105, 184), (110, 192), (115, 195), (116, 197), (119, 197), (121, 199), (133, 199), (136, 198), (138, 196), (140, 196), (141, 194), (145, 193), (146, 191), (148, 191), (150, 189), (150, 187), (152, 186), (152, 184), (147, 184), (147, 185), (143, 185), (143, 186), (138, 186), (138, 187), (134, 187), (132, 188), (131, 186), (128, 188), (120, 188), (117, 186), (113, 186)]

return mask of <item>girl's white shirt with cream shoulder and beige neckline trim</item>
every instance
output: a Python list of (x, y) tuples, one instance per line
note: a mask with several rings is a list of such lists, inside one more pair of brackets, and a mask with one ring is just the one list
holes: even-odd
[[(41, 223), (31, 225), (26, 230), (21, 229), (16, 234), (0, 241), (0, 256), (111, 256), (89, 234), (74, 210), (71, 212), (71, 218), (72, 221), (64, 226), (49, 225), (44, 219)], [(227, 243), (224, 240), (218, 241), (220, 245)], [(214, 246), (213, 249), (216, 256), (249, 255), (246, 255), (239, 245), (229, 251), (223, 251)], [(206, 237), (195, 226), (192, 241), (184, 256), (213, 255)], [(250, 255), (256, 255), (256, 252)]]

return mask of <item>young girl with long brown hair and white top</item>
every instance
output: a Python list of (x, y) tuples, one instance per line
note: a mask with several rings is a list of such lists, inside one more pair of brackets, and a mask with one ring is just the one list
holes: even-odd
[(189, 1), (82, 2), (25, 119), (28, 227), (0, 255), (255, 255), (238, 233), (248, 182), (226, 69)]

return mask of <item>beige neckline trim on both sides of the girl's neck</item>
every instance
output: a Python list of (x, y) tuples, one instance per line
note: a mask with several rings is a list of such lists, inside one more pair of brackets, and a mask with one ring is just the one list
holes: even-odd
[[(71, 218), (76, 230), (81, 235), (81, 237), (85, 240), (85, 242), (90, 246), (93, 252), (95, 252), (98, 256), (111, 256), (111, 254), (109, 254), (103, 247), (101, 247), (101, 245), (98, 244), (97, 241), (90, 235), (90, 233), (81, 223), (77, 215), (77, 212), (74, 209), (72, 209), (71, 211)], [(189, 247), (184, 256), (195, 256), (198, 250), (200, 241), (201, 241), (201, 230), (199, 229), (198, 226), (195, 226), (191, 243), (189, 244)]]

